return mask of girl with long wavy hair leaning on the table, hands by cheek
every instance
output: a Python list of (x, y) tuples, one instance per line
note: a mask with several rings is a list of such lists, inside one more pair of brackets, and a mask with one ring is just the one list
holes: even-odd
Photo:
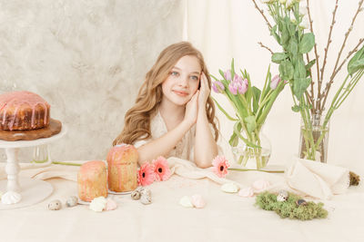
[(147, 73), (113, 145), (133, 144), (139, 164), (174, 156), (211, 166), (218, 132), (210, 87), (202, 54), (187, 42), (169, 45)]

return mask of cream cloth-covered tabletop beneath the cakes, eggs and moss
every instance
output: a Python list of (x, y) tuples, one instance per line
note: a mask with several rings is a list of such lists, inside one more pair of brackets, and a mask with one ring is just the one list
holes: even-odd
[[(74, 172), (77, 168), (69, 169)], [(228, 179), (249, 186), (257, 179), (275, 183), (283, 175), (232, 171)], [(49, 198), (28, 208), (1, 211), (0, 241), (364, 241), (361, 185), (323, 201), (328, 218), (298, 221), (256, 207), (255, 198), (224, 193), (209, 179), (173, 175), (148, 187), (152, 204), (143, 205), (129, 195), (109, 195), (118, 208), (100, 213), (86, 205), (66, 208), (66, 198), (76, 195), (75, 181), (46, 180), (54, 187)], [(183, 196), (194, 194), (205, 198), (205, 208), (178, 204)], [(62, 201), (61, 210), (47, 209), (54, 199)]]

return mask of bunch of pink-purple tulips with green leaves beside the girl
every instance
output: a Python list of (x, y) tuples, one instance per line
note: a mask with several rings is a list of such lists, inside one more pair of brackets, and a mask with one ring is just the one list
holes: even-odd
[[(235, 121), (233, 134), (229, 144), (238, 153), (238, 164), (247, 165), (248, 160), (255, 160), (256, 168), (261, 169), (267, 165), (270, 148), (262, 147), (260, 131), (267, 119), (268, 113), (276, 101), (278, 94), (282, 92), (286, 82), (281, 82), (279, 75), (271, 77), (270, 66), (262, 90), (252, 86), (247, 71), (241, 75), (235, 72), (234, 59), (231, 62), (231, 69), (223, 72), (219, 70), (222, 79), (212, 76), (212, 90), (224, 94), (235, 110), (235, 117), (227, 114), (227, 111), (214, 99), (217, 107), (227, 119)], [(243, 141), (243, 146), (238, 147), (238, 141)], [(236, 148), (236, 149), (234, 149)]]

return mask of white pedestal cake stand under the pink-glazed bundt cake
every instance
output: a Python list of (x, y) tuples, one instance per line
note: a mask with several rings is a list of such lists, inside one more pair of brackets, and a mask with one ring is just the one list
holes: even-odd
[[(62, 125), (62, 130), (49, 138), (18, 141), (0, 140), (0, 148), (5, 149), (7, 157), (5, 165), (7, 180), (0, 180), (0, 190), (6, 190), (5, 194), (1, 197), (0, 210), (31, 206), (47, 198), (52, 193), (52, 185), (44, 180), (18, 178), (20, 167), (18, 165), (17, 152), (20, 148), (48, 145), (62, 138), (66, 131), (66, 126)], [(47, 163), (52, 163), (49, 150)]]

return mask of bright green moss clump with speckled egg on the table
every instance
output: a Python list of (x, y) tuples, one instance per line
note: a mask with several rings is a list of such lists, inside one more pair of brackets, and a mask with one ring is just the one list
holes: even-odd
[(307, 205), (296, 204), (296, 201), (301, 199), (299, 196), (288, 193), (287, 201), (277, 201), (277, 194), (269, 193), (268, 191), (258, 194), (256, 205), (265, 210), (275, 211), (280, 218), (292, 218), (299, 220), (310, 220), (313, 218), (327, 218), (328, 211), (322, 208), (324, 204), (318, 204), (308, 201)]

